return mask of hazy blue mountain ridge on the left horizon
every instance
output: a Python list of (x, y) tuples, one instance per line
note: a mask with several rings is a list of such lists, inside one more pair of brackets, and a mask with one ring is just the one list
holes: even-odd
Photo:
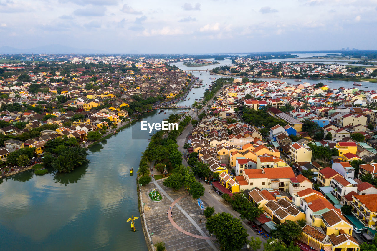
[(66, 53), (98, 53), (104, 54), (109, 53), (107, 51), (95, 50), (95, 49), (78, 49), (74, 47), (68, 47), (61, 44), (49, 44), (46, 46), (39, 46), (30, 49), (18, 49), (10, 46), (0, 47), (0, 54), (17, 54), (17, 53), (47, 53), (47, 54), (66, 54)]

